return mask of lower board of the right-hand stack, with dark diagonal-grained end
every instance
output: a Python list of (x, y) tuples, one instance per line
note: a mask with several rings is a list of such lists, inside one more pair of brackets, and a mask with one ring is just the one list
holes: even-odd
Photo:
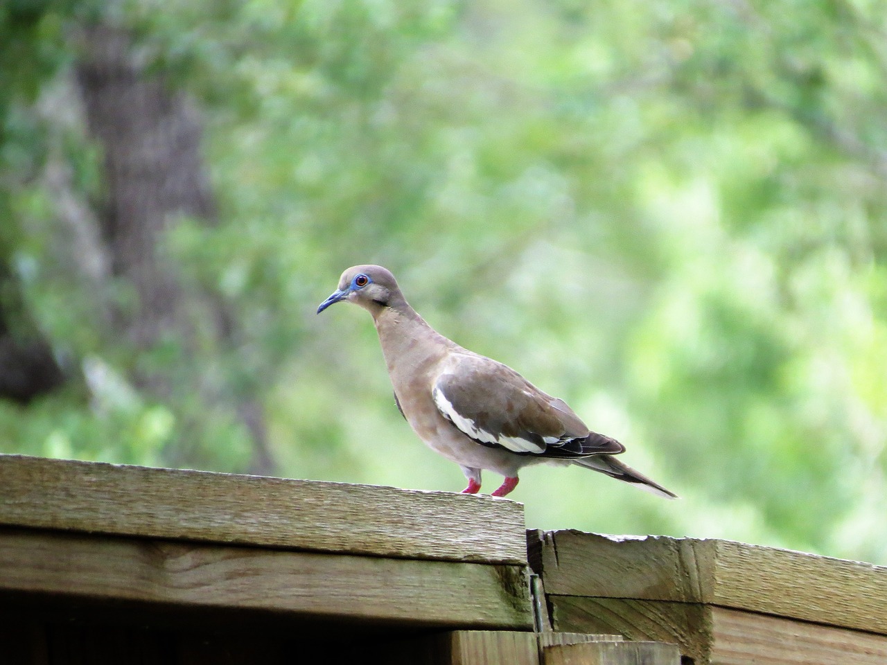
[(555, 630), (674, 642), (696, 665), (883, 665), (887, 637), (698, 603), (551, 596)]

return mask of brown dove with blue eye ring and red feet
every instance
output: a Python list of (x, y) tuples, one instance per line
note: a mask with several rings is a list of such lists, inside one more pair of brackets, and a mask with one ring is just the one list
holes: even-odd
[(468, 481), (462, 493), (479, 492), (482, 471), (491, 471), (505, 478), (491, 496), (505, 497), (522, 467), (549, 463), (584, 466), (657, 496), (677, 497), (616, 459), (624, 445), (590, 430), (563, 400), (428, 325), (386, 268), (345, 270), (318, 314), (342, 301), (373, 316), (397, 408), (429, 448), (459, 465)]

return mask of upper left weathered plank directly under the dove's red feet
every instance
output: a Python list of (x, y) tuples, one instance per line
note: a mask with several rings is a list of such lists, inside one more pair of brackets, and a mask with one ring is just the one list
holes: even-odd
[(0, 455), (0, 525), (520, 564), (523, 506), (335, 482)]

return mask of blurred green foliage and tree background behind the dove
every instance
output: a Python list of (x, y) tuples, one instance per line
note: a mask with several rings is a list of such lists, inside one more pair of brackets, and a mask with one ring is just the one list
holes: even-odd
[(6, 0), (0, 77), (3, 452), (462, 489), (314, 314), (378, 262), (682, 497), (528, 526), (887, 563), (882, 2)]

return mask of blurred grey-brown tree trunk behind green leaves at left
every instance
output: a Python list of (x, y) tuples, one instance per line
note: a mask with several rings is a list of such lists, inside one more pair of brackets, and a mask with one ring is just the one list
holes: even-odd
[[(231, 313), (208, 293), (186, 291), (177, 265), (162, 250), (165, 233), (182, 215), (216, 223), (195, 106), (162, 77), (145, 73), (133, 55), (130, 34), (117, 27), (84, 28), (76, 79), (90, 134), (105, 151), (100, 235), (112, 273), (128, 281), (136, 296), (133, 307), (115, 312), (114, 325), (137, 349), (153, 348), (171, 332), (187, 352), (195, 344), (192, 322), (208, 317), (207, 327), (220, 347), (230, 346), (237, 334)], [(213, 393), (204, 399), (217, 400), (216, 390), (202, 390), (200, 368), (194, 370), (194, 388)], [(169, 377), (154, 373), (132, 379), (153, 395), (172, 396)], [(261, 403), (229, 393), (232, 411), (252, 436), (249, 470), (270, 473), (274, 465)]]

